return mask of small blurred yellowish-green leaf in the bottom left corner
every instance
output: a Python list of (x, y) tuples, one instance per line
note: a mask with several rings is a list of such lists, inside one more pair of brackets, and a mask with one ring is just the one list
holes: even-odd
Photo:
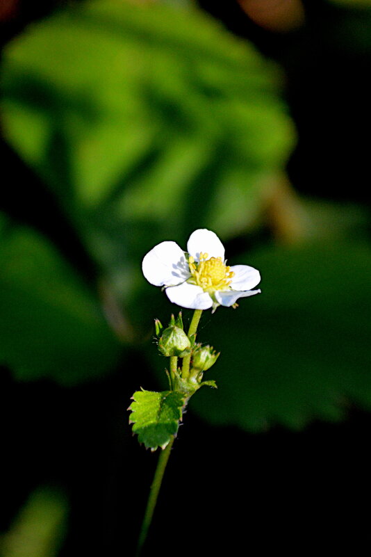
[(54, 557), (65, 532), (68, 504), (49, 487), (31, 493), (10, 530), (1, 536), (1, 557)]

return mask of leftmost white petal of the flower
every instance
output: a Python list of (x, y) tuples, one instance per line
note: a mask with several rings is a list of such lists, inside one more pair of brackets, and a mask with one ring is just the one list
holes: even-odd
[(184, 252), (175, 242), (161, 242), (145, 255), (142, 271), (155, 286), (181, 284), (190, 277)]

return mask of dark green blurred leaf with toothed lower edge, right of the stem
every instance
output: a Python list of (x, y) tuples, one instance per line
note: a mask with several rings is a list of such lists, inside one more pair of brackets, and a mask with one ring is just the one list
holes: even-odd
[(349, 403), (371, 409), (370, 246), (267, 248), (238, 261), (261, 271), (262, 293), (204, 314), (198, 337), (221, 351), (220, 388), (190, 407), (248, 430), (337, 420)]

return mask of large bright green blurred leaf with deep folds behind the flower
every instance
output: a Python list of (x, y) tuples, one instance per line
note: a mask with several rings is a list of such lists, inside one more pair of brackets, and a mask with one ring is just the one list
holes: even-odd
[(75, 5), (14, 40), (2, 78), (6, 138), (122, 298), (151, 244), (256, 222), (294, 140), (277, 67), (195, 7)]

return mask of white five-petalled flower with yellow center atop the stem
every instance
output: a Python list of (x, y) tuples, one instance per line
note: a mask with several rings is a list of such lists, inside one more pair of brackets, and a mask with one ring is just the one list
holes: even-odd
[(142, 271), (148, 282), (165, 286), (167, 298), (189, 309), (234, 306), (238, 298), (258, 294), (251, 290), (261, 280), (247, 265), (226, 266), (224, 247), (215, 232), (192, 232), (187, 252), (172, 241), (161, 242), (145, 255)]

